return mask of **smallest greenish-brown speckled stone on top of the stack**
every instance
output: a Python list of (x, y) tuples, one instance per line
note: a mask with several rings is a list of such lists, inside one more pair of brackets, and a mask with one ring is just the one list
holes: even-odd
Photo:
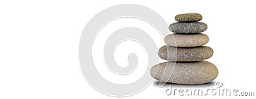
[(202, 15), (198, 13), (185, 13), (175, 16), (175, 20), (178, 22), (197, 22), (202, 20)]

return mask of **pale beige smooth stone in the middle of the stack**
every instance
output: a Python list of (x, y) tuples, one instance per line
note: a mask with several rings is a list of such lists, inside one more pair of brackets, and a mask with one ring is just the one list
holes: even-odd
[(172, 47), (198, 47), (209, 42), (206, 34), (168, 34), (164, 38), (164, 42)]

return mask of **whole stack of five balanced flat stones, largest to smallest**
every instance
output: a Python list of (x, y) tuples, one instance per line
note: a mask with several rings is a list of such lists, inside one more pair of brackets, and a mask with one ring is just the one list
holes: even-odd
[[(164, 38), (166, 45), (159, 49), (158, 55), (167, 62), (152, 66), (150, 75), (157, 80), (175, 84), (204, 84), (218, 76), (218, 69), (208, 61), (212, 56), (211, 47), (203, 46), (209, 37), (202, 34), (207, 25), (198, 22), (202, 15), (186, 13), (175, 16), (178, 22), (169, 26), (173, 34)], [(169, 68), (169, 69), (167, 69)], [(172, 69), (170, 69), (172, 68)], [(163, 76), (163, 75), (169, 76)]]

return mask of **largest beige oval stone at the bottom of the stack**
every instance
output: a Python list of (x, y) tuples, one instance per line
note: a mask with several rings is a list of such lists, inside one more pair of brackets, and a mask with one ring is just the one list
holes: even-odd
[(208, 61), (168, 61), (152, 66), (150, 75), (156, 80), (162, 79), (164, 82), (175, 84), (204, 84), (218, 76), (218, 68)]

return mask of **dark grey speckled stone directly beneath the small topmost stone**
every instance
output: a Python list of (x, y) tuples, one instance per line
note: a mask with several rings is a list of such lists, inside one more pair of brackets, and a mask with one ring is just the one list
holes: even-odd
[(169, 29), (173, 33), (202, 33), (207, 29), (207, 25), (202, 22), (176, 22), (170, 24)]

